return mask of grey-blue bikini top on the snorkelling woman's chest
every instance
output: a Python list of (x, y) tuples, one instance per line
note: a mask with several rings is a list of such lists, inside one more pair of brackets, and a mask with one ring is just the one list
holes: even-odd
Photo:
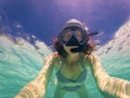
[(80, 73), (80, 75), (78, 76), (78, 78), (76, 81), (69, 79), (67, 77), (65, 77), (62, 73), (61, 73), (61, 69), (63, 68), (63, 63), (60, 68), (60, 70), (56, 72), (56, 77), (61, 83), (82, 83), (86, 81), (87, 77), (87, 69), (84, 68), (82, 61), (80, 61), (80, 65), (83, 69), (83, 71)]

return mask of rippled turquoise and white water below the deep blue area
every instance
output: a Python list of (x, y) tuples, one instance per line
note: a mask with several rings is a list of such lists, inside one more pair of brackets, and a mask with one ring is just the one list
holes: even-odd
[[(51, 53), (51, 48), (42, 41), (35, 40), (35, 45), (31, 45), (21, 37), (13, 41), (9, 35), (0, 35), (0, 98), (13, 98), (25, 84), (37, 76), (46, 58)], [(94, 53), (100, 56), (109, 75), (130, 81), (130, 21)], [(91, 71), (86, 84), (90, 98), (103, 98)], [(51, 79), (47, 98), (53, 98), (54, 88), (54, 81)], [(68, 93), (64, 98), (78, 97), (74, 93)]]

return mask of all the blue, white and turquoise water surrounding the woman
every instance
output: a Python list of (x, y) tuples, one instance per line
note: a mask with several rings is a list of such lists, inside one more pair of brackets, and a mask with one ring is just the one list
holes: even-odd
[[(40, 72), (54, 50), (52, 40), (64, 22), (76, 17), (100, 35), (94, 51), (106, 72), (130, 81), (129, 0), (0, 0), (0, 98), (13, 98)], [(54, 79), (46, 98), (53, 98)], [(103, 98), (89, 70), (90, 98)], [(67, 93), (64, 98), (78, 98)]]

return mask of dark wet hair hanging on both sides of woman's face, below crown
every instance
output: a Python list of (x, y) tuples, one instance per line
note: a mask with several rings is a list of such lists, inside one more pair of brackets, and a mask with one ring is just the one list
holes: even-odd
[[(68, 53), (65, 51), (63, 45), (60, 42), (58, 37), (54, 39), (53, 48), (57, 51), (60, 57), (66, 58), (68, 56)], [(89, 40), (83, 46), (83, 51), (82, 52), (84, 54), (90, 54), (94, 49), (95, 49), (95, 44), (90, 36)]]

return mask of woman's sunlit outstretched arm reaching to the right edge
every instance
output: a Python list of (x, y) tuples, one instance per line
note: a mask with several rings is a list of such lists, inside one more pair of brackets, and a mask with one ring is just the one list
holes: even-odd
[(109, 76), (103, 69), (99, 57), (90, 54), (88, 59), (100, 90), (116, 98), (130, 98), (130, 82)]

